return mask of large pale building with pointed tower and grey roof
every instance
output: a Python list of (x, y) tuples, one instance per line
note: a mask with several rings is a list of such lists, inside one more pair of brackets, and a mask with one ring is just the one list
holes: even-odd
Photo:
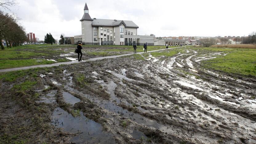
[(126, 20), (91, 18), (87, 4), (82, 24), (82, 43), (86, 45), (154, 45), (154, 36), (138, 35), (139, 28), (134, 22)]

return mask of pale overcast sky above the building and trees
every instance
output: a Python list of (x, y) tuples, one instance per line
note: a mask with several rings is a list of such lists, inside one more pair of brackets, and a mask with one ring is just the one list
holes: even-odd
[[(91, 18), (131, 20), (138, 35), (243, 36), (256, 31), (254, 0), (17, 0), (11, 8), (26, 32), (81, 34), (85, 3)], [(7, 12), (7, 11), (6, 11)]]

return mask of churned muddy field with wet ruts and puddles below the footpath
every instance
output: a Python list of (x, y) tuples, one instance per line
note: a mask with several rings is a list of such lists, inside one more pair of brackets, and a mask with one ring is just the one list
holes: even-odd
[(0, 143), (256, 143), (256, 78), (203, 67), (228, 52), (178, 50), (0, 81)]

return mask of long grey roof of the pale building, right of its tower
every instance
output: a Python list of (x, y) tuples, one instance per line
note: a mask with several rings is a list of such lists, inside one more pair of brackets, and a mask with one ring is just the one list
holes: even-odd
[(112, 19), (93, 19), (92, 26), (121, 26), (124, 25), (126, 28), (139, 28), (133, 21), (123, 20), (112, 20)]

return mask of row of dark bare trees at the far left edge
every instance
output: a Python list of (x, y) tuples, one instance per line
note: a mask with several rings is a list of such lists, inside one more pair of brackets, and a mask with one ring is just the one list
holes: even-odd
[[(25, 29), (20, 26), (17, 19), (13, 15), (4, 14), (0, 10), (0, 39), (6, 41), (6, 46), (21, 46), (27, 40)], [(4, 50), (2, 42), (0, 42), (1, 49)]]

